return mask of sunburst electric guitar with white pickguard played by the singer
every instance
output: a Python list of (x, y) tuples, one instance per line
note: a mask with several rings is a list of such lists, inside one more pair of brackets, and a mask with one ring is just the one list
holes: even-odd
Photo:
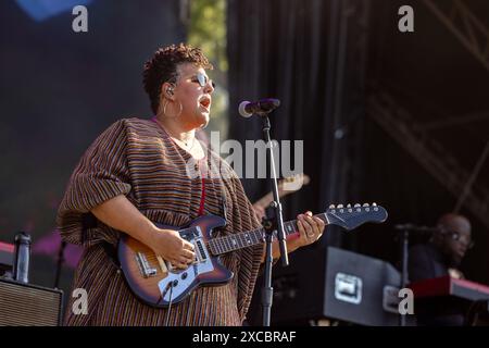
[[(338, 225), (346, 229), (387, 219), (387, 211), (375, 203), (330, 206), (315, 215), (326, 225)], [(121, 268), (130, 290), (143, 302), (165, 308), (171, 303), (183, 301), (192, 290), (200, 286), (224, 285), (233, 278), (233, 272), (220, 261), (220, 256), (264, 243), (263, 228), (236, 233), (213, 238), (213, 229), (223, 227), (226, 221), (216, 215), (203, 215), (193, 220), (185, 228), (165, 226), (160, 228), (178, 231), (180, 237), (193, 244), (196, 260), (186, 270), (173, 265), (154, 254), (154, 251), (137, 239), (123, 234), (117, 247)], [(287, 237), (298, 236), (297, 221), (284, 223)]]

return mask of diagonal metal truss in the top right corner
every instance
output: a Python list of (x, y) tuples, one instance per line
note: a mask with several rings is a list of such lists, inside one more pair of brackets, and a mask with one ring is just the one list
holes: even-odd
[[(467, 5), (461, 0), (423, 0), (423, 2), (489, 71), (489, 29)], [(441, 2), (442, 7), (439, 5)]]

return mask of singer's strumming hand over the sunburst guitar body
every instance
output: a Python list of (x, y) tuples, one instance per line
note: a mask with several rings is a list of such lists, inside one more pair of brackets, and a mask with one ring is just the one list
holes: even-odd
[(185, 270), (196, 260), (193, 245), (173, 229), (161, 229), (152, 234), (149, 245), (156, 256), (170, 261), (173, 266)]

